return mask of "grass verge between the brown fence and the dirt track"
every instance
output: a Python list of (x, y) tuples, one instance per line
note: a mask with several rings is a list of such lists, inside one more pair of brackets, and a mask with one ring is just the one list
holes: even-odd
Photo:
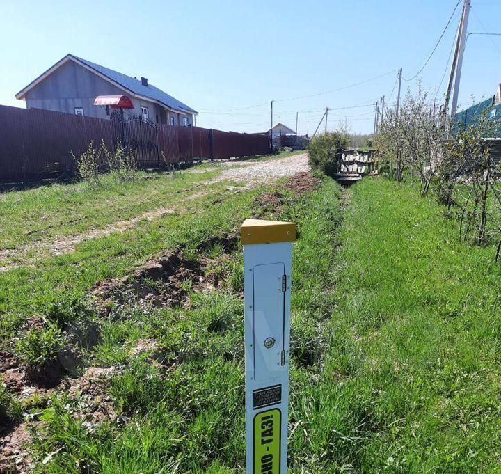
[(165, 173), (139, 172), (138, 180), (125, 183), (102, 175), (103, 186), (97, 189), (75, 182), (1, 193), (1, 247), (17, 248), (40, 239), (76, 235), (127, 221), (141, 212), (170, 208), (195, 192), (200, 182), (214, 177), (214, 171), (201, 169), (205, 172), (186, 171), (176, 174), (175, 179)]

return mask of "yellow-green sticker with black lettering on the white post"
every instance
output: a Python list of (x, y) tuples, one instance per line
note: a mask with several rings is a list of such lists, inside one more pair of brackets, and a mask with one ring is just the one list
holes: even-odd
[(282, 413), (272, 409), (254, 417), (254, 474), (280, 474)]

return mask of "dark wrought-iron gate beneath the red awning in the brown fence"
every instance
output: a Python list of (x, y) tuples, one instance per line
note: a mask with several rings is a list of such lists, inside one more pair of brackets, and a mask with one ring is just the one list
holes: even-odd
[(111, 113), (113, 146), (121, 143), (129, 156), (134, 157), (140, 168), (157, 165), (160, 161), (157, 125), (140, 115), (127, 115), (119, 111)]

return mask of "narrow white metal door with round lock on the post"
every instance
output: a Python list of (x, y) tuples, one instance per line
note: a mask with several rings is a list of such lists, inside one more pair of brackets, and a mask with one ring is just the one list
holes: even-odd
[(253, 274), (254, 377), (255, 380), (273, 379), (285, 370), (282, 359), (285, 267), (283, 263), (257, 265)]

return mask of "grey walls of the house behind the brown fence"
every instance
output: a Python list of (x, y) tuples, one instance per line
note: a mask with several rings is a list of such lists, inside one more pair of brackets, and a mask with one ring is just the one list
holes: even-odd
[[(141, 113), (141, 106), (148, 107), (148, 118), (153, 122), (168, 124), (169, 112), (164, 107), (132, 97), (122, 88), (114, 86), (97, 74), (83, 68), (74, 61), (67, 61), (60, 68), (49, 74), (40, 84), (26, 93), (26, 109), (44, 109), (56, 112), (74, 113), (76, 107), (84, 109), (84, 116), (108, 118), (103, 106), (94, 105), (97, 95), (127, 95), (134, 109), (126, 113)], [(182, 124), (178, 113), (175, 113), (175, 125)], [(189, 124), (193, 116), (188, 116)]]

